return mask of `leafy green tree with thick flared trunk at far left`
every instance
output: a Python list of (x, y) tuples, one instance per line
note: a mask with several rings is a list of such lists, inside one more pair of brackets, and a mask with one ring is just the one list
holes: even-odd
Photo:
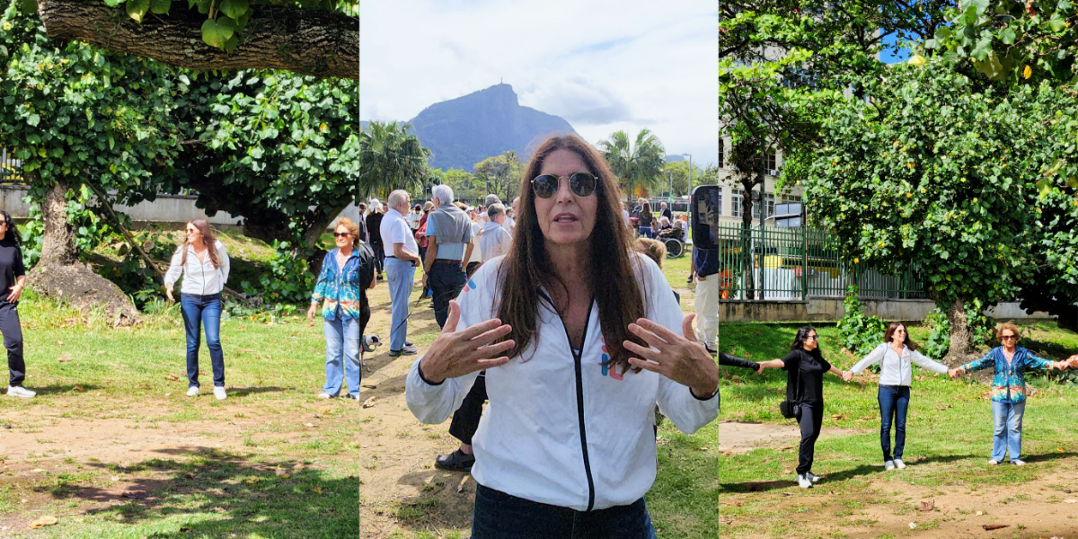
[(154, 198), (177, 153), (177, 78), (151, 60), (50, 41), (14, 2), (0, 17), (0, 147), (15, 149), (44, 220), (31, 287), (135, 320), (130, 300), (79, 263), (69, 215), (95, 203), (94, 190), (124, 204)]

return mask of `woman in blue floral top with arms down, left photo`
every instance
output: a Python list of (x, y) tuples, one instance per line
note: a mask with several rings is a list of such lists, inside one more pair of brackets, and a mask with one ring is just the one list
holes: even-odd
[[(333, 229), (336, 249), (326, 253), (315, 292), (310, 294), (307, 320), (322, 305), (326, 319), (326, 386), (322, 399), (341, 392), (342, 376), (348, 383), (348, 398), (359, 400), (363, 374), (360, 347), (363, 330), (371, 318), (367, 289), (374, 288), (374, 253), (360, 240), (359, 226), (342, 217)], [(344, 368), (342, 369), (342, 363)]]

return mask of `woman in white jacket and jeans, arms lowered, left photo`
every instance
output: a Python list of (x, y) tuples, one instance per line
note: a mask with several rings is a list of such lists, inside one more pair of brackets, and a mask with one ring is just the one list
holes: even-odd
[(206, 347), (213, 364), (213, 396), (224, 392), (224, 355), (221, 351), (221, 290), (229, 280), (229, 252), (224, 244), (213, 239), (209, 222), (192, 219), (186, 225), (186, 240), (172, 254), (165, 274), (165, 293), (172, 298), (172, 285), (183, 276), (180, 286), (180, 313), (188, 335), (188, 397), (198, 397), (199, 326), (206, 329)]

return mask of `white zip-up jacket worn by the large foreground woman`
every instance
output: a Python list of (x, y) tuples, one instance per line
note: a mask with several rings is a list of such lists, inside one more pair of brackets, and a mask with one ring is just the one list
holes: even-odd
[[(681, 308), (662, 271), (634, 255), (646, 317), (681, 334)], [(457, 331), (497, 317), (502, 260), (484, 263), (468, 280), (457, 298)], [(658, 373), (603, 367), (608, 356), (594, 303), (579, 356), (548, 302), (540, 303), (537, 326), (521, 357), (486, 371), (489, 404), (472, 438), (471, 470), (483, 486), (578, 511), (628, 505), (655, 480), (655, 404), (686, 433), (719, 414), (718, 393), (700, 400)], [(407, 375), (407, 405), (419, 421), (439, 424), (460, 406), (479, 373), (430, 385), (419, 376), (420, 360)]]

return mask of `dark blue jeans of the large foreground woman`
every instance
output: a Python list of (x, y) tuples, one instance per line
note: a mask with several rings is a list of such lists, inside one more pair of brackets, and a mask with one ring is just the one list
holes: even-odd
[(655, 539), (655, 529), (644, 498), (584, 512), (476, 485), (472, 539)]

